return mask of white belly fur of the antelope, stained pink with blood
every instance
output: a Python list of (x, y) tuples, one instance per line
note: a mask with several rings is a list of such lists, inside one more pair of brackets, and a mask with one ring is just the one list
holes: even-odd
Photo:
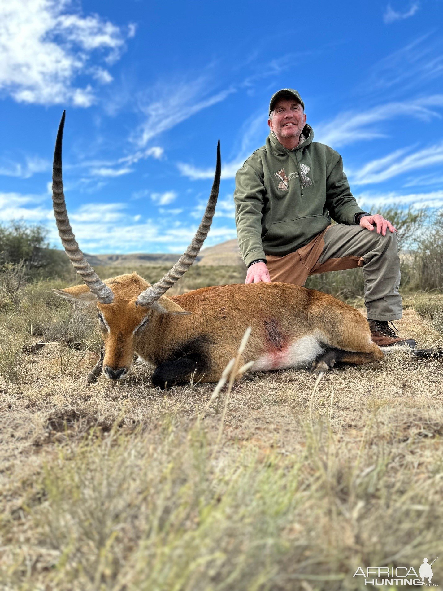
[(259, 357), (249, 371), (297, 368), (309, 365), (325, 349), (320, 335), (306, 335), (283, 350), (275, 350)]

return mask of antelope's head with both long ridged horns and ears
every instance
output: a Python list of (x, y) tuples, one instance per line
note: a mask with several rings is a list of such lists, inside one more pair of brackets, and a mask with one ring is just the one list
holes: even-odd
[[(67, 215), (61, 172), (64, 119), (65, 112), (58, 127), (54, 151), (53, 207), (61, 243), (84, 285), (54, 291), (58, 296), (97, 306), (105, 352), (94, 372), (99, 365), (103, 365), (103, 374), (108, 379), (118, 380), (128, 374), (136, 340), (152, 314), (190, 314), (164, 296), (164, 293), (191, 267), (209, 232), (220, 186), (220, 142), (217, 145), (216, 174), (206, 211), (196, 235), (174, 267), (154, 285), (149, 285), (136, 273), (102, 281), (80, 250)], [(94, 376), (97, 377), (97, 373)]]

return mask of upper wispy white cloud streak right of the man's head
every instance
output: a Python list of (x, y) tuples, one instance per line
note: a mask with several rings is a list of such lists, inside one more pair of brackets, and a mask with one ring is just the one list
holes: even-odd
[(377, 123), (399, 116), (408, 116), (420, 121), (441, 119), (441, 115), (431, 107), (442, 107), (443, 95), (432, 95), (415, 100), (390, 102), (360, 113), (348, 111), (339, 113), (332, 121), (315, 127), (317, 141), (333, 148), (353, 144), (356, 141), (386, 137), (377, 128)]

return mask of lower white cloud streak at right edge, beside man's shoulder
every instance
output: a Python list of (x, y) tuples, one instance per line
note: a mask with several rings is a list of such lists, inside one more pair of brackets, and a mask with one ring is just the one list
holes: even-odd
[(359, 170), (347, 171), (352, 184), (382, 183), (399, 174), (443, 164), (443, 142), (405, 155), (410, 148), (396, 150), (383, 158), (365, 164)]

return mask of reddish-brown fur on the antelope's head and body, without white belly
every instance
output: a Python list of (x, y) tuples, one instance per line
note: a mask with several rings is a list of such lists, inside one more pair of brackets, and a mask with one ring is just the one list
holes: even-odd
[[(159, 365), (174, 358), (186, 343), (200, 339), (209, 365), (196, 379), (217, 381), (229, 360), (236, 355), (243, 333), (252, 327), (243, 362), (266, 352), (281, 352), (294, 340), (315, 332), (325, 345), (363, 355), (343, 359), (367, 363), (383, 357), (370, 338), (367, 320), (359, 311), (328, 294), (284, 283), (218, 285), (190, 291), (181, 296), (162, 296), (159, 306), (148, 310), (136, 306), (136, 298), (149, 284), (136, 273), (106, 281), (115, 294), (112, 304), (97, 307), (110, 327), (103, 332), (103, 365), (129, 368), (133, 354)], [(86, 285), (63, 290), (66, 296), (87, 297)], [(186, 310), (187, 316), (175, 314)], [(147, 326), (133, 335), (144, 317)]]

